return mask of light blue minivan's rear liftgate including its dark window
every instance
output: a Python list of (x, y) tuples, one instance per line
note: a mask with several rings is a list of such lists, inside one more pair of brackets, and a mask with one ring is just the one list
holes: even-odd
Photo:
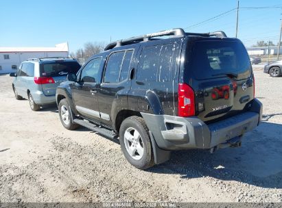
[(76, 74), (80, 69), (78, 62), (57, 60), (55, 62), (43, 62), (40, 64), (40, 77), (52, 78), (54, 83), (45, 83), (42, 90), (45, 96), (54, 96), (56, 88), (62, 81), (66, 81), (69, 73)]

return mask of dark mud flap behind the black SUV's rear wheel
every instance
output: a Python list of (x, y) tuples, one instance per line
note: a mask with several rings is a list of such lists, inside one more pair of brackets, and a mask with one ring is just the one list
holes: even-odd
[(149, 131), (150, 138), (152, 142), (152, 148), (154, 153), (154, 163), (155, 164), (163, 164), (165, 161), (170, 159), (171, 151), (165, 151), (158, 147), (158, 144), (156, 144), (156, 141), (154, 140), (154, 135), (152, 134), (152, 131)]

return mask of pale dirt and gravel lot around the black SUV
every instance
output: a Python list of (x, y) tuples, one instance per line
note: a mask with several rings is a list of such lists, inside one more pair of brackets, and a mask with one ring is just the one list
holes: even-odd
[(67, 131), (56, 106), (32, 112), (0, 76), (0, 202), (282, 202), (282, 77), (255, 70), (263, 122), (242, 148), (178, 151), (148, 171), (89, 129)]

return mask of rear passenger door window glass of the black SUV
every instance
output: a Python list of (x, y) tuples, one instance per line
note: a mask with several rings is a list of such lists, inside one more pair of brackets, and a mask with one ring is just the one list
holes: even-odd
[(106, 71), (104, 75), (105, 83), (117, 83), (119, 82), (119, 71), (121, 70), (122, 60), (124, 59), (125, 51), (119, 51), (112, 53), (108, 57)]

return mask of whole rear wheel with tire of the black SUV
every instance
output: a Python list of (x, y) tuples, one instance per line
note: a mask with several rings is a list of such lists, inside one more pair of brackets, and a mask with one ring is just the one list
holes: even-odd
[(126, 118), (119, 129), (121, 151), (132, 166), (145, 170), (154, 166), (149, 129), (143, 118)]

